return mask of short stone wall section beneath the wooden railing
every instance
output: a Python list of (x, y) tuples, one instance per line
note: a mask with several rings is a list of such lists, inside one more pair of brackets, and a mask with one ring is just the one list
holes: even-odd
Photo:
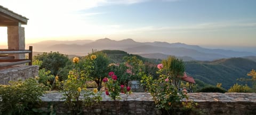
[(29, 77), (38, 76), (38, 69), (39, 67), (37, 65), (20, 65), (12, 68), (1, 69), (0, 84), (7, 85), (10, 80), (25, 80)]

